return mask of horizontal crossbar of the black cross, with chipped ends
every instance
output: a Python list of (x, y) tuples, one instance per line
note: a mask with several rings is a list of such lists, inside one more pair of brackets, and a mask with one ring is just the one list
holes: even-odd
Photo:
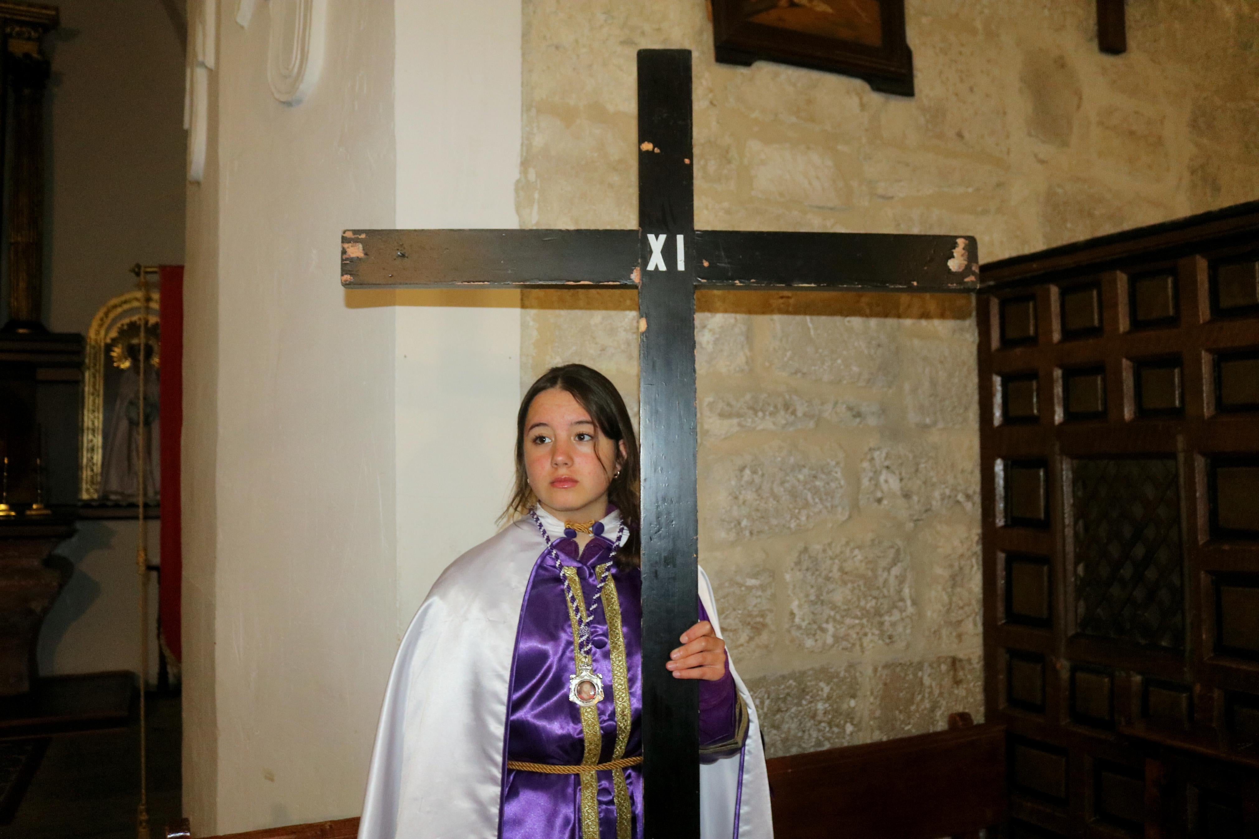
[[(346, 230), (341, 284), (637, 288), (646, 268), (638, 262), (638, 230)], [(676, 238), (656, 244), (660, 260), (652, 270), (676, 274)], [(943, 293), (973, 292), (978, 286), (969, 236), (696, 230), (691, 243), (684, 239), (681, 253), (684, 262), (694, 254), (696, 288)]]

